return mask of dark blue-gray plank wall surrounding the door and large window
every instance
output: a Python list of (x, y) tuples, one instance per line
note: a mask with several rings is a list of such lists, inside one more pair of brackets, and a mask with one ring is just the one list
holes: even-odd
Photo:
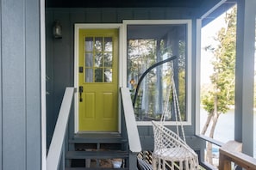
[[(74, 24), (75, 23), (122, 23), (122, 20), (166, 20), (166, 19), (191, 19), (192, 9), (47, 9), (47, 145), (53, 135), (53, 128), (58, 118), (59, 106), (67, 86), (73, 86), (74, 63)], [(62, 39), (53, 39), (53, 21), (59, 20), (63, 29)], [(195, 20), (193, 21), (193, 42), (195, 40)], [(192, 46), (192, 56), (195, 58), (195, 46)], [(193, 64), (195, 64), (193, 59)], [(193, 75), (195, 68), (193, 68)], [(195, 78), (192, 78), (195, 86)], [(192, 99), (195, 99), (195, 92)], [(193, 102), (195, 102), (193, 100)], [(192, 103), (192, 124), (195, 124), (195, 103)], [(186, 135), (194, 135), (194, 126), (185, 127)], [(152, 127), (141, 126), (139, 128), (142, 147), (152, 149)], [(148, 140), (150, 139), (150, 140)], [(190, 138), (188, 143), (194, 142)]]

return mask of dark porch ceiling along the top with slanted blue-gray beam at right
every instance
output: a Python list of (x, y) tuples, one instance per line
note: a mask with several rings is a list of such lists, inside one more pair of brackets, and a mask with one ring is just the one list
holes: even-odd
[[(223, 0), (45, 0), (46, 8), (187, 8), (193, 17), (200, 18)], [(226, 0), (203, 25), (234, 5), (237, 0)]]

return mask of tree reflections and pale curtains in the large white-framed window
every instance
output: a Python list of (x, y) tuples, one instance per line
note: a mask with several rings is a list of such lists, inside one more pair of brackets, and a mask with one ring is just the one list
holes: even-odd
[[(172, 32), (166, 33), (159, 39), (128, 39), (128, 87), (131, 89), (133, 97), (136, 82), (148, 67), (176, 55), (178, 60), (173, 64), (174, 78), (179, 96), (180, 111), (185, 120), (186, 42), (184, 34), (186, 27), (185, 25), (169, 27)], [(134, 106), (138, 121), (158, 120), (160, 118), (165, 103), (166, 88), (171, 83), (171, 74), (170, 64), (160, 65), (147, 74), (140, 85), (138, 99)], [(172, 96), (169, 100), (171, 101), (169, 110), (172, 110)], [(169, 120), (171, 119), (175, 118), (169, 117)]]

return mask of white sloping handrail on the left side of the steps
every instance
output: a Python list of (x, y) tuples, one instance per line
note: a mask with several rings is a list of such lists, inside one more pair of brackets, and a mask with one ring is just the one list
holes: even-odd
[(72, 106), (74, 88), (66, 88), (60, 109), (59, 117), (53, 132), (53, 139), (47, 154), (47, 170), (58, 170), (63, 152), (66, 128)]

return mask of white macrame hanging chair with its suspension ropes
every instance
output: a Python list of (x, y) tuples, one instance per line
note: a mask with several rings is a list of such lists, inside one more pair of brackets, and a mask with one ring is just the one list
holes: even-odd
[[(171, 94), (174, 115), (176, 117), (177, 133), (171, 131), (164, 125), (165, 117), (168, 114), (171, 114), (171, 112), (168, 111), (168, 102)], [(154, 136), (154, 150), (152, 155), (153, 170), (200, 169), (197, 154), (193, 149), (190, 149), (189, 145), (185, 142), (184, 128), (180, 116), (178, 96), (173, 78), (173, 69), (171, 86), (167, 89), (166, 93), (164, 112), (160, 121), (152, 121), (152, 124)], [(179, 129), (181, 129), (182, 135), (179, 135)]]

